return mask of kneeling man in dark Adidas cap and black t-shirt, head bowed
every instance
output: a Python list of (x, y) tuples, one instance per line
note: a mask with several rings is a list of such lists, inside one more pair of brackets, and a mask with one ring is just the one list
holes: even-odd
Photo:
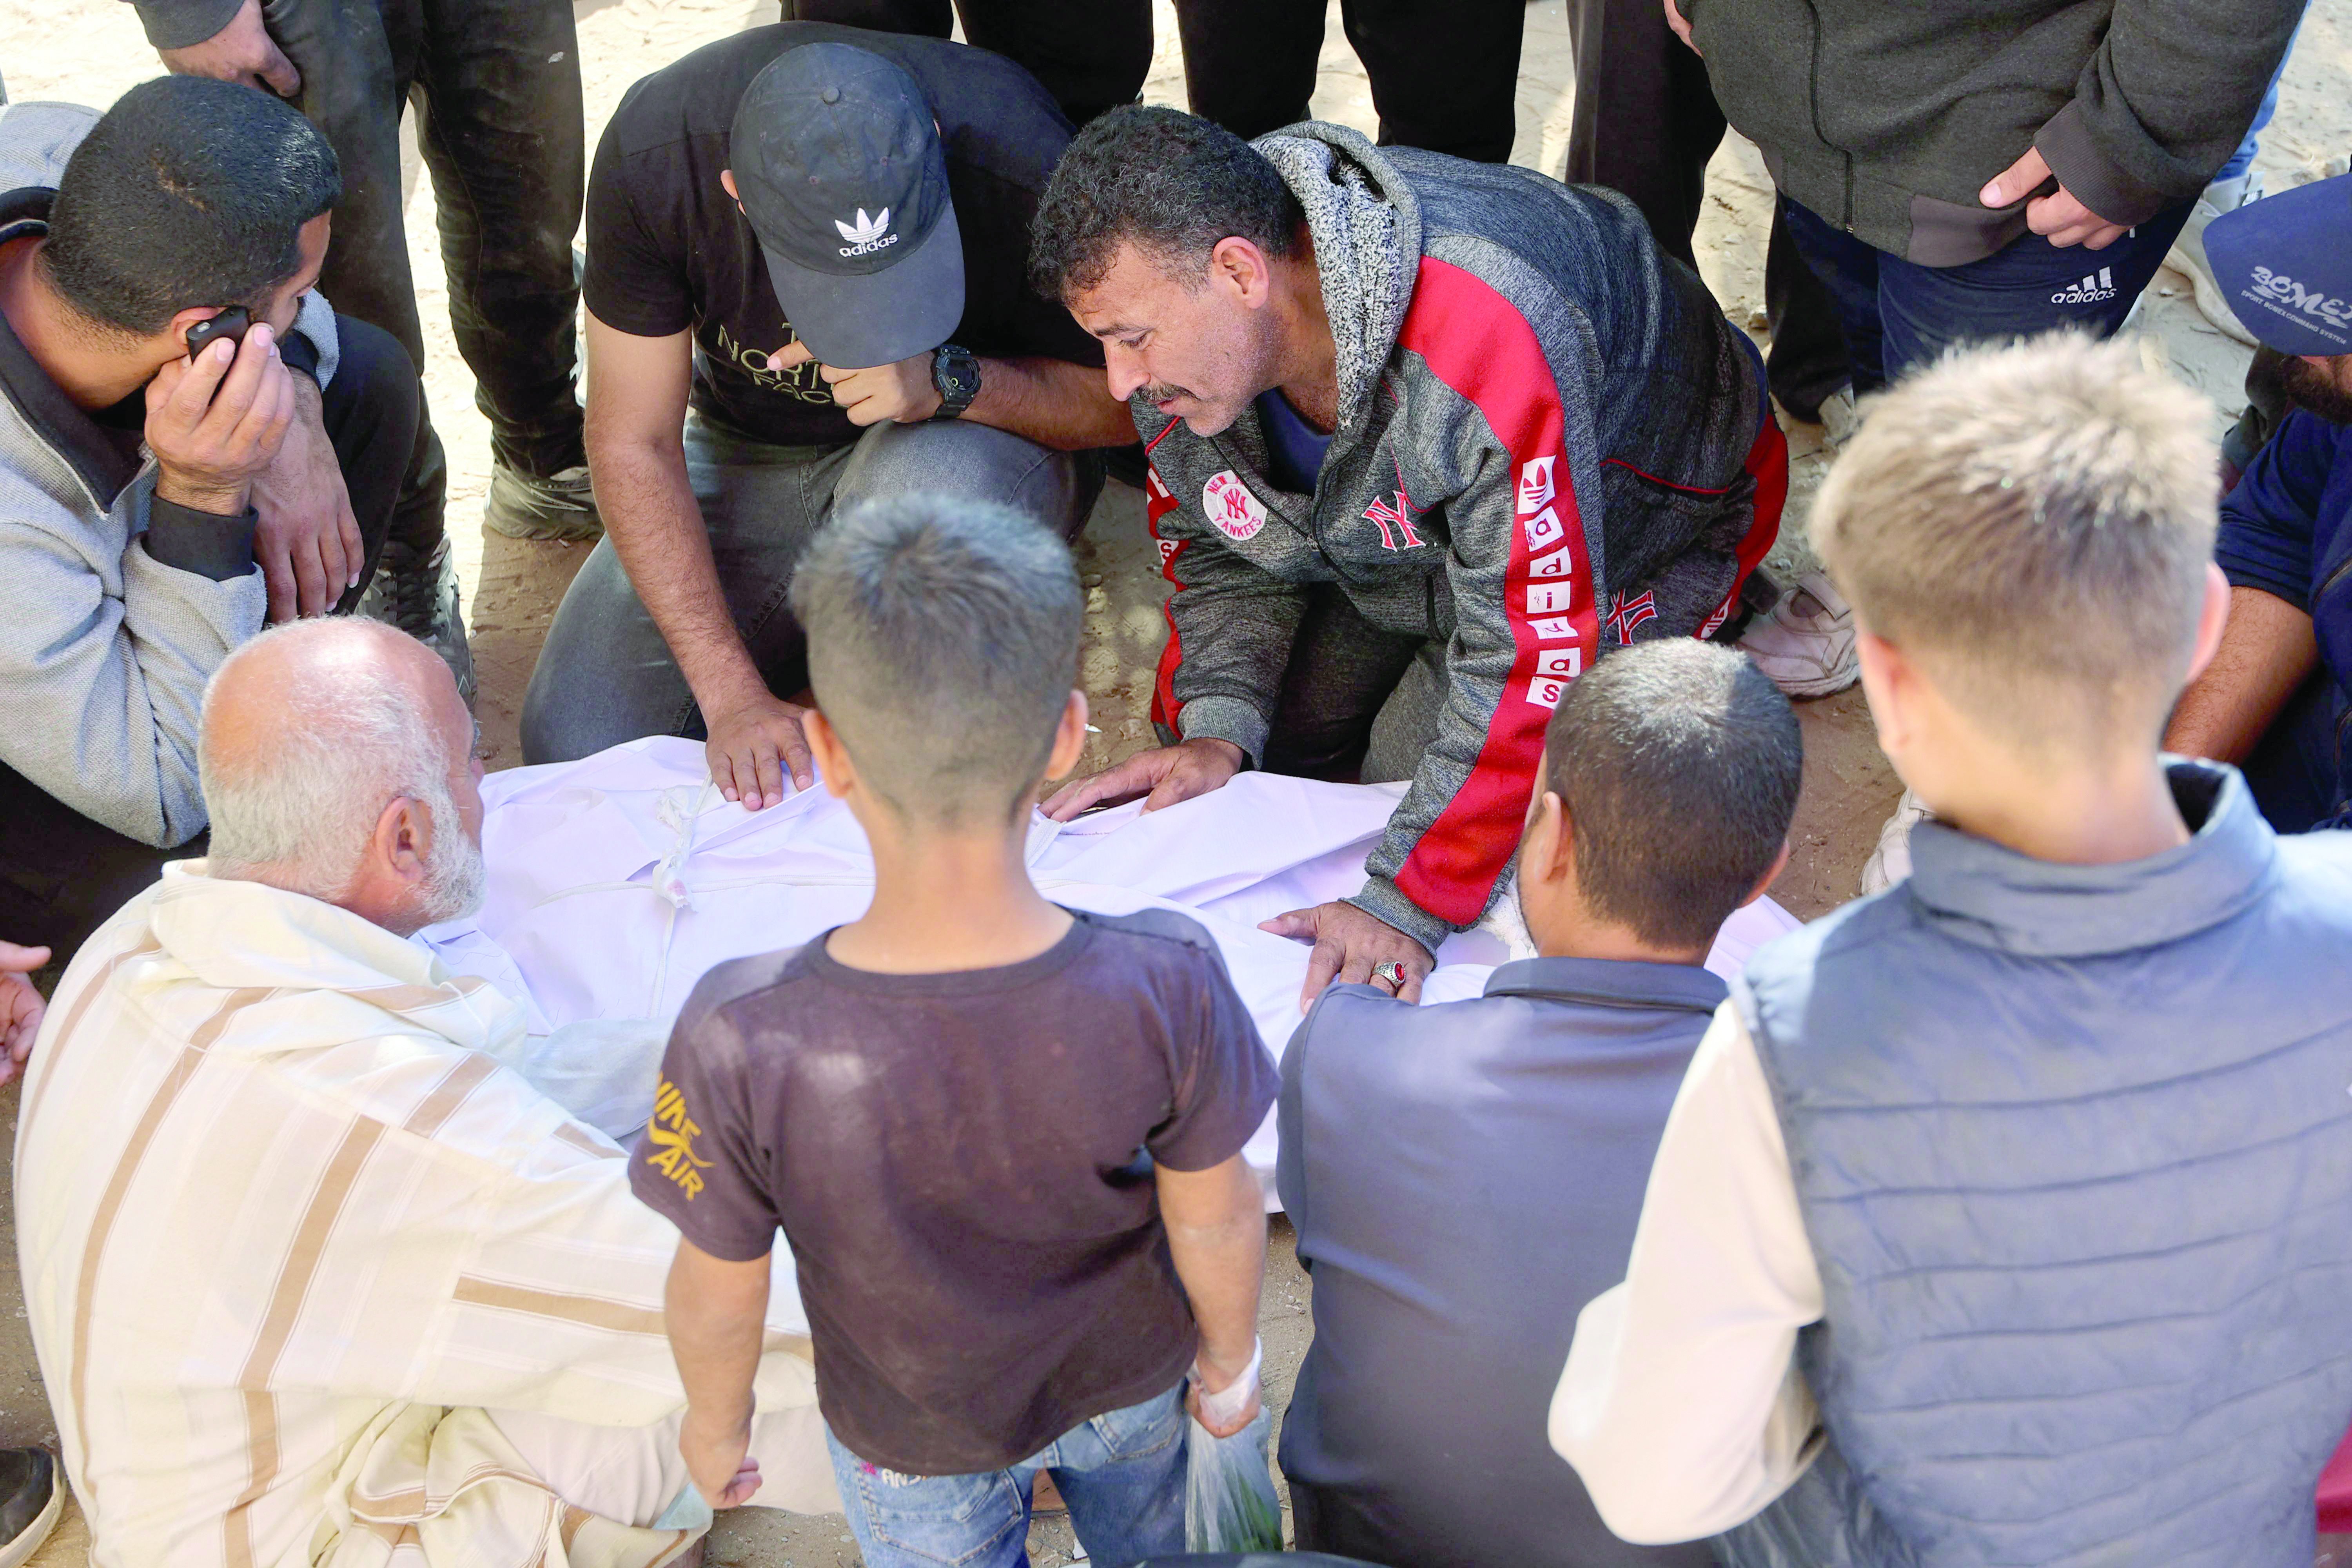
[(588, 176), (588, 465), (522, 755), (703, 736), (757, 811), (809, 783), (786, 585), (854, 501), (1002, 501), (1075, 536), (1136, 437), (1101, 348), (1023, 280), (1070, 125), (1021, 66), (821, 21), (621, 99)]

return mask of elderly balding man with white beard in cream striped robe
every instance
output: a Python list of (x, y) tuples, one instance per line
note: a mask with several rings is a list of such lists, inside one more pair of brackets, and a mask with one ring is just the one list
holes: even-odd
[[(473, 741), (397, 630), (245, 644), (205, 693), (212, 858), (52, 999), (16, 1234), (103, 1568), (652, 1568), (710, 1521), (663, 1338), (677, 1232), (501, 1065), (522, 1009), (407, 940), (480, 900)], [(790, 1262), (774, 1302), (753, 1505), (833, 1509)]]

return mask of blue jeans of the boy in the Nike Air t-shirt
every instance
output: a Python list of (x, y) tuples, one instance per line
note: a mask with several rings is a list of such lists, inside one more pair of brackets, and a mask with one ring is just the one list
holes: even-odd
[(1054, 1474), (1070, 1526), (1101, 1568), (1183, 1552), (1183, 1385), (1063, 1432), (1009, 1469), (903, 1476), (828, 1432), (866, 1568), (1028, 1568), (1030, 1483)]

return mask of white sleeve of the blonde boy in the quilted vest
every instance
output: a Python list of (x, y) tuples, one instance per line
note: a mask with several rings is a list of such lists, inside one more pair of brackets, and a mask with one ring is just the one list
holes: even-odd
[(1820, 1448), (1795, 1366), (1820, 1319), (1780, 1117), (1726, 1001), (1665, 1119), (1625, 1284), (1592, 1298), (1552, 1394), (1559, 1450), (1623, 1540), (1703, 1540), (1759, 1514)]

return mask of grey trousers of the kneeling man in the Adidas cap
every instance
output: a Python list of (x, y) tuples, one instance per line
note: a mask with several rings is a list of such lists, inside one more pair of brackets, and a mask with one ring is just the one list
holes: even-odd
[[(809, 684), (809, 658), (786, 590), (837, 508), (915, 491), (1002, 501), (1077, 538), (1103, 489), (1103, 461), (962, 421), (884, 423), (847, 447), (771, 447), (689, 414), (687, 480), (736, 632), (767, 689), (790, 696)], [(640, 736), (703, 733), (670, 644), (612, 538), (600, 541), (539, 649), (522, 698), (522, 759), (572, 762)]]

